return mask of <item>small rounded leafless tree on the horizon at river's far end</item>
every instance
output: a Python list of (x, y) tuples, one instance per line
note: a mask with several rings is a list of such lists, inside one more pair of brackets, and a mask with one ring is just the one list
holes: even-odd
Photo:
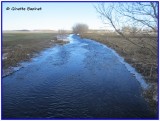
[(72, 27), (73, 33), (82, 34), (88, 31), (88, 25), (86, 24), (76, 24)]

